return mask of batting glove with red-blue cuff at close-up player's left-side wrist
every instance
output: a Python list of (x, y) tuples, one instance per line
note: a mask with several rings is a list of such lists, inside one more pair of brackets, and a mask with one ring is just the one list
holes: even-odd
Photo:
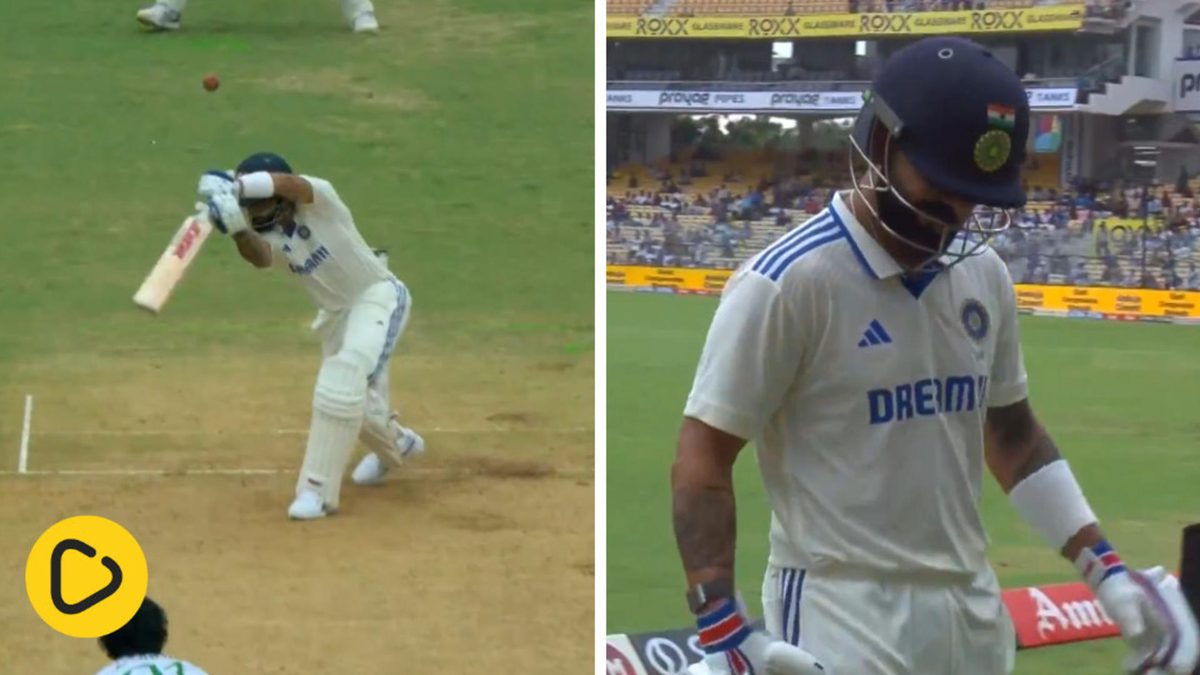
[(704, 661), (692, 675), (832, 675), (811, 653), (755, 631), (733, 598), (696, 621)]

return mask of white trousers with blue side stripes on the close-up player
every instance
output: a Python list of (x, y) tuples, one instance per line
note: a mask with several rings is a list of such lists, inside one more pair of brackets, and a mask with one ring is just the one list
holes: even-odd
[(767, 631), (835, 675), (1004, 675), (1016, 651), (991, 569), (958, 585), (767, 567)]

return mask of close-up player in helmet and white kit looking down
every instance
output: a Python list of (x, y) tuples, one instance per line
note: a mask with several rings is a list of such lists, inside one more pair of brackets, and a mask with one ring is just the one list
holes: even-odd
[[(671, 474), (694, 671), (1012, 671), (984, 467), (1121, 628), (1129, 673), (1196, 667), (1177, 581), (1122, 562), (1030, 406), (1013, 282), (985, 244), (1025, 203), (1028, 126), (1020, 80), (982, 46), (901, 49), (853, 130), (852, 189), (730, 280)], [(772, 506), (766, 631), (733, 583), (749, 441)]]

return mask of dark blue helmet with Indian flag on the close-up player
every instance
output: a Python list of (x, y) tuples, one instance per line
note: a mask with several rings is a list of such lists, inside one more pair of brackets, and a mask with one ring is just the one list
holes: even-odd
[[(859, 197), (875, 192), (877, 205), (869, 208), (894, 238), (930, 253), (926, 262), (962, 261), (984, 252), (988, 240), (1013, 223), (1013, 209), (1025, 205), (1028, 132), (1028, 97), (1012, 68), (970, 40), (928, 37), (892, 54), (864, 94), (850, 139), (851, 178)], [(953, 222), (953, 214), (948, 220), (944, 203), (918, 207), (906, 198), (889, 174), (895, 150), (926, 183), (976, 204), (967, 221)], [(856, 155), (868, 167), (863, 179)], [(884, 210), (892, 215), (883, 217)], [(914, 229), (910, 216), (936, 223), (940, 240)]]

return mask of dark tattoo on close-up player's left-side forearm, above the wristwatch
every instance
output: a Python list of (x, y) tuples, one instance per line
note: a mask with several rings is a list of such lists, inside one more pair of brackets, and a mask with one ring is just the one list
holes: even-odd
[(732, 486), (677, 488), (672, 503), (676, 543), (688, 577), (732, 579), (737, 540)]

